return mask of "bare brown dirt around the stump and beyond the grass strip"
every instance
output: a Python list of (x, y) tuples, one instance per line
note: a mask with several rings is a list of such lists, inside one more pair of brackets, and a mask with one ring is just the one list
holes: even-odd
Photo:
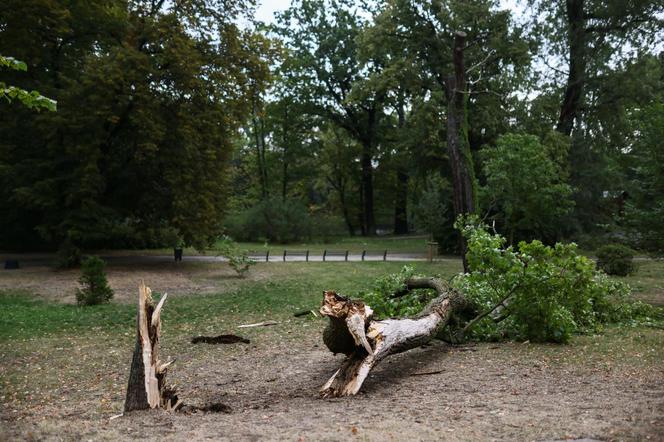
[[(74, 272), (28, 270), (3, 274), (0, 287), (63, 300), (58, 294), (75, 286)], [(112, 268), (116, 297), (133, 301), (137, 277), (191, 293), (235, 284), (205, 267)], [(662, 330), (610, 329), (567, 346), (435, 342), (386, 360), (357, 397), (320, 399), (318, 388), (342, 360), (322, 345), (323, 321), (211, 324), (251, 344), (192, 345), (197, 330), (173, 334), (168, 308), (164, 318), (163, 353), (177, 357), (168, 379), (180, 398), (223, 403), (229, 413), (110, 419), (122, 411), (134, 336), (100, 328), (0, 342), (0, 375), (10, 380), (0, 390), (0, 440), (664, 440)]]

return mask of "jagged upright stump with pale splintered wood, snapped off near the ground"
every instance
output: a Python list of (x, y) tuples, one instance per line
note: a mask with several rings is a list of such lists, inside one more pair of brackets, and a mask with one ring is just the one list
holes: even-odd
[(164, 295), (155, 307), (152, 292), (144, 283), (138, 289), (138, 315), (136, 318), (136, 347), (131, 361), (127, 398), (124, 411), (163, 407), (168, 410), (179, 405), (174, 390), (166, 387), (166, 371), (173, 363), (159, 360), (161, 309)]

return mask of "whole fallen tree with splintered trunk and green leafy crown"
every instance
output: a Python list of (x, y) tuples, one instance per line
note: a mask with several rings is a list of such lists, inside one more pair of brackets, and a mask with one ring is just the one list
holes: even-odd
[[(506, 246), (505, 238), (489, 233), (476, 219), (462, 221), (457, 226), (468, 239), (470, 272), (457, 275), (453, 287), (416, 276), (406, 266), (400, 274), (377, 280), (374, 289), (362, 295), (371, 306), (324, 292), (320, 313), (330, 323), (323, 341), (346, 359), (321, 388), (322, 396), (357, 394), (380, 361), (435, 337), (452, 343), (566, 343), (575, 334), (600, 330), (602, 324), (650, 324), (661, 317), (634, 300), (629, 286), (597, 271), (574, 244), (551, 247), (532, 241)], [(403, 318), (379, 320), (374, 315)]]

